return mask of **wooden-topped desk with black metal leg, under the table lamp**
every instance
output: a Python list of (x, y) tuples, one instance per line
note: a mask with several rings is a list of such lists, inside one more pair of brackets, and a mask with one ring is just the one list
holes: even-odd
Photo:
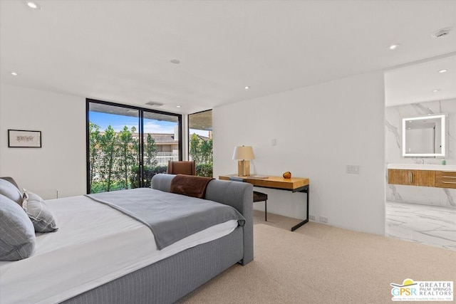
[[(220, 175), (219, 179), (229, 180), (229, 177), (239, 177), (237, 174)], [(309, 221), (309, 179), (304, 177), (291, 177), (291, 179), (284, 179), (283, 177), (268, 177), (267, 179), (257, 179), (250, 177), (241, 177), (245, 179), (249, 184), (253, 184), (255, 187), (288, 190), (291, 192), (304, 192), (306, 193), (306, 219), (301, 221), (299, 224), (293, 226), (291, 231), (295, 231), (302, 225)]]

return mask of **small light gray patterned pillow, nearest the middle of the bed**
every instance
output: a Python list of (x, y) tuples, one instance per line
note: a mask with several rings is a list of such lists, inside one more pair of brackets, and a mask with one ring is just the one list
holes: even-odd
[(31, 219), (36, 232), (53, 232), (58, 229), (51, 210), (37, 194), (25, 190), (22, 208)]

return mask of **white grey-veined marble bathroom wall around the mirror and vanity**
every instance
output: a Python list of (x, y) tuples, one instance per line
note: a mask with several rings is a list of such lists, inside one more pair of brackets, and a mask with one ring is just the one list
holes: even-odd
[[(402, 118), (447, 114), (447, 164), (456, 164), (456, 99), (413, 103), (385, 108), (385, 162), (388, 164), (440, 164), (441, 158), (402, 156)], [(386, 174), (388, 170), (386, 169)], [(456, 208), (456, 189), (393, 185), (386, 182), (386, 200)]]

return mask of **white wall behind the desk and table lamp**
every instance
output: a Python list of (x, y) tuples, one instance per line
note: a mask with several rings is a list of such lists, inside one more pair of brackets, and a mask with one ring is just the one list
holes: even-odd
[[(383, 235), (383, 117), (381, 72), (214, 108), (214, 177), (236, 173), (234, 146), (252, 145), (253, 174), (310, 178), (310, 214), (317, 220)], [(347, 164), (358, 164), (360, 174), (347, 174)], [(306, 194), (261, 192), (270, 196), (271, 213), (304, 219)]]

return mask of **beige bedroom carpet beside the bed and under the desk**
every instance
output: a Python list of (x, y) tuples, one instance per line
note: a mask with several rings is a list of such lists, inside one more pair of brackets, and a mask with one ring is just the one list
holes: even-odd
[(180, 303), (391, 303), (390, 283), (405, 278), (456, 282), (455, 251), (313, 222), (276, 226), (269, 214), (255, 224), (254, 261)]

